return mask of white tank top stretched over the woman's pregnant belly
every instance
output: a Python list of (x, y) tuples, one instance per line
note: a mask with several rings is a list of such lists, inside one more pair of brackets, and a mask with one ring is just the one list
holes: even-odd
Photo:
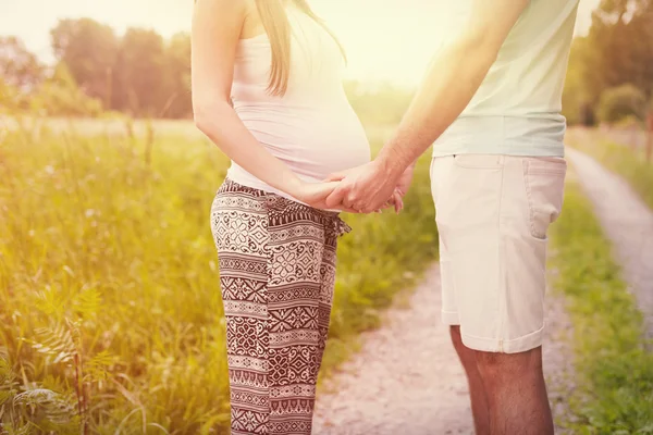
[[(272, 51), (267, 35), (238, 42), (233, 105), (249, 132), (306, 182), (370, 161), (370, 147), (344, 91), (343, 55), (329, 33), (288, 8), (291, 70), (283, 97), (268, 94)], [(287, 194), (232, 162), (227, 177), (244, 186)]]

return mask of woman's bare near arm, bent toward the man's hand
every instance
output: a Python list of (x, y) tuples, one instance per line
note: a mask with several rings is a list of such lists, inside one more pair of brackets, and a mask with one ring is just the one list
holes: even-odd
[(316, 208), (337, 183), (301, 182), (245, 127), (230, 103), (236, 47), (247, 3), (196, 0), (192, 32), (195, 124), (239, 166), (270, 186)]

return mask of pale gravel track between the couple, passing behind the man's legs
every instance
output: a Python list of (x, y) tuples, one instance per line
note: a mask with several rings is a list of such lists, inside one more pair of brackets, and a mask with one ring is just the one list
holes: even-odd
[[(383, 327), (361, 337), (364, 346), (319, 395), (316, 435), (473, 434), (467, 382), (448, 332), (440, 321), (440, 275), (434, 264), (409, 307), (392, 309)], [(554, 409), (565, 384), (567, 328), (563, 304), (549, 307), (545, 371)]]

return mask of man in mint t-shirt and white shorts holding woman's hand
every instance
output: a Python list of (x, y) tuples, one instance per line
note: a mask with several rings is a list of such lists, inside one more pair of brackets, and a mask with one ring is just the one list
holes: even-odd
[(562, 90), (578, 0), (472, 0), (394, 137), (329, 207), (379, 209), (433, 142), (443, 321), (477, 434), (553, 434), (542, 373), (546, 231), (566, 163)]

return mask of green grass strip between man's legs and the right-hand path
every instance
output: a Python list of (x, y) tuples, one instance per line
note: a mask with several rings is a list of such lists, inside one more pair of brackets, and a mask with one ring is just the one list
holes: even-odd
[(553, 226), (553, 268), (574, 323), (577, 434), (653, 434), (653, 355), (589, 200), (574, 179)]

